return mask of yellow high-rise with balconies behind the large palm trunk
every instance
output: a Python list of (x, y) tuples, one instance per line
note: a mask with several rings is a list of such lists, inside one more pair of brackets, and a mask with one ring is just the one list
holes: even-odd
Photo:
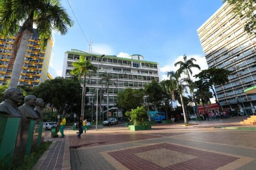
[[(0, 37), (0, 85), (6, 84), (11, 78), (12, 70), (8, 69), (11, 58), (11, 47), (15, 37)], [(48, 67), (53, 42), (48, 41), (45, 51), (40, 50), (40, 38), (36, 29), (27, 44), (24, 65), (18, 85), (33, 87), (48, 79)]]

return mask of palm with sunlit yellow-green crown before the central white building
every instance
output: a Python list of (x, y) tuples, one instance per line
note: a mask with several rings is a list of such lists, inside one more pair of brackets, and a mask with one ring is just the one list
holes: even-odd
[(81, 116), (85, 114), (85, 94), (86, 94), (86, 85), (85, 80), (86, 76), (90, 77), (90, 71), (96, 72), (96, 67), (94, 67), (89, 60), (86, 60), (85, 56), (80, 56), (77, 62), (73, 62), (72, 66), (74, 69), (70, 72), (74, 76), (78, 76), (79, 79), (83, 77), (83, 92), (82, 92), (82, 108)]

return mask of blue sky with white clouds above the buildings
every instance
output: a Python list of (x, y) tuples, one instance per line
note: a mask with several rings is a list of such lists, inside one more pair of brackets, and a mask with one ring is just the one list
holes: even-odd
[[(62, 75), (64, 53), (89, 51), (67, 0), (62, 5), (74, 26), (61, 36), (53, 33), (49, 72)], [(162, 79), (175, 70), (175, 62), (186, 54), (207, 69), (197, 29), (222, 5), (222, 0), (69, 0), (85, 36), (92, 40), (92, 53), (128, 57), (144, 56), (158, 62)], [(194, 70), (193, 73), (199, 71)]]

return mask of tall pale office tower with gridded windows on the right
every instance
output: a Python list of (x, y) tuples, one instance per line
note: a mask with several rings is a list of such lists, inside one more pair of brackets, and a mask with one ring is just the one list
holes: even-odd
[(232, 6), (224, 3), (197, 30), (208, 67), (232, 71), (229, 82), (215, 86), (219, 103), (223, 108), (254, 112), (256, 94), (244, 90), (256, 85), (256, 36), (244, 31), (245, 18), (232, 12)]

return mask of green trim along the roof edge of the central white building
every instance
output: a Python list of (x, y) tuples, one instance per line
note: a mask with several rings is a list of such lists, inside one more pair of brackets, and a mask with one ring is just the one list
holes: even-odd
[[(83, 55), (83, 56), (95, 56), (95, 57), (101, 57), (101, 55), (99, 54), (90, 54), (87, 52), (71, 52), (71, 51), (67, 51), (65, 53), (68, 54), (75, 54), (75, 55)], [(117, 56), (104, 56), (104, 58), (111, 58), (111, 59), (117, 59), (117, 60), (125, 60), (125, 61), (131, 61), (131, 62), (144, 62), (144, 63), (149, 63), (149, 64), (157, 64), (157, 62), (149, 62), (149, 61), (144, 61), (144, 60), (134, 60), (134, 59), (130, 59), (130, 58), (122, 58), (122, 57), (117, 57)]]

